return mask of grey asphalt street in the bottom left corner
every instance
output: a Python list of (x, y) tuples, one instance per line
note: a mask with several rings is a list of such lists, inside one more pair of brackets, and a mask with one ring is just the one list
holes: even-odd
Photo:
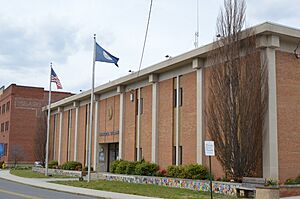
[(93, 197), (41, 189), (41, 188), (36, 188), (36, 187), (0, 179), (0, 199), (21, 199), (21, 198), (92, 199)]

